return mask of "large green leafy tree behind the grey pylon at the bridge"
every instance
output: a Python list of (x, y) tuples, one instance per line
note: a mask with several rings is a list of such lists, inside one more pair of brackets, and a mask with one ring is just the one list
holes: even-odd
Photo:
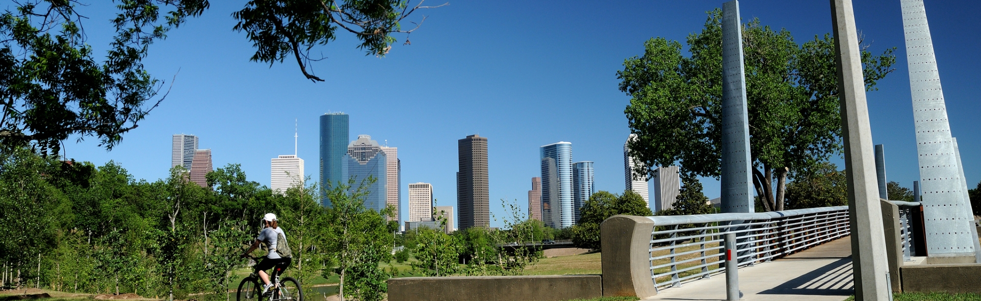
[[(678, 164), (688, 177), (719, 177), (721, 11), (709, 12), (687, 43), (690, 57), (677, 41), (651, 38), (642, 57), (617, 71), (620, 91), (631, 96), (624, 113), (638, 134), (629, 143), (640, 174)], [(753, 186), (765, 210), (783, 210), (788, 176), (842, 150), (834, 39), (825, 34), (799, 45), (787, 29), (753, 20), (743, 24), (743, 49)], [(894, 51), (862, 51), (866, 90), (894, 70)]]

